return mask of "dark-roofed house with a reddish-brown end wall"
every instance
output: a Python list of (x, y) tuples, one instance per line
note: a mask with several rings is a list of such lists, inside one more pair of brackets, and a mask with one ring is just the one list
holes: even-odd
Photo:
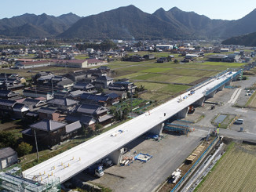
[(59, 110), (51, 107), (41, 107), (38, 111), (40, 119), (49, 119), (53, 121), (64, 121), (65, 115), (61, 114)]

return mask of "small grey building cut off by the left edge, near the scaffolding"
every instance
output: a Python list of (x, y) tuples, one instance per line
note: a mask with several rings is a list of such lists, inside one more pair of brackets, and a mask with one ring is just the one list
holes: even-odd
[(0, 169), (9, 167), (10, 165), (16, 164), (18, 156), (15, 150), (11, 147), (5, 147), (0, 149)]

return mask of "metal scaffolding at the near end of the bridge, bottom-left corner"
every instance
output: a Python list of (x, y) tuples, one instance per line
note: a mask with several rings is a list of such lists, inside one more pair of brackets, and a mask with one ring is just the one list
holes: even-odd
[(13, 192), (57, 192), (60, 191), (60, 179), (51, 177), (48, 179), (47, 183), (40, 183), (36, 179), (24, 179), (22, 176), (14, 176), (8, 172), (0, 172), (0, 187)]

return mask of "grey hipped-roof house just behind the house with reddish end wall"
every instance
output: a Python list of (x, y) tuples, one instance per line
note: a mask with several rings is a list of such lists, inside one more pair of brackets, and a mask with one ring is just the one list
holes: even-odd
[(68, 98), (57, 98), (53, 100), (48, 100), (47, 103), (49, 104), (49, 106), (57, 107), (58, 110), (62, 110), (63, 112), (69, 112), (75, 108), (79, 101), (71, 100)]

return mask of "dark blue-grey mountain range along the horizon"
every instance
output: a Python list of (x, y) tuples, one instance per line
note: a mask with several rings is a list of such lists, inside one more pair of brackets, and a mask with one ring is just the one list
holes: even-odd
[(211, 20), (177, 7), (144, 13), (133, 5), (79, 17), (24, 14), (0, 20), (3, 37), (86, 39), (226, 39), (256, 32), (256, 9), (240, 20)]

